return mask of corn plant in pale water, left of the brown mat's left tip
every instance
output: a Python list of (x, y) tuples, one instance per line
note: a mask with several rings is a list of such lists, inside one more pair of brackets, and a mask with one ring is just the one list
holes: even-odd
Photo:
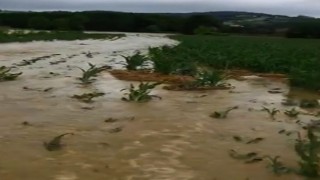
[(97, 76), (98, 73), (110, 69), (109, 66), (101, 66), (101, 67), (96, 67), (95, 65), (88, 63), (89, 64), (89, 69), (84, 70), (82, 68), (79, 68), (82, 71), (82, 77), (78, 78), (82, 84), (90, 84), (92, 83), (95, 79), (94, 77)]

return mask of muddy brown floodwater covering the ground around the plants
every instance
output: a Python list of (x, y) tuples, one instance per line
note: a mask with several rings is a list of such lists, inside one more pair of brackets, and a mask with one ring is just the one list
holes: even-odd
[[(244, 163), (228, 151), (281, 156), (297, 167), (293, 147), (301, 126), (283, 114), (281, 102), (291, 98), (319, 98), (289, 91), (284, 80), (247, 77), (230, 80), (232, 90), (173, 92), (158, 87), (162, 100), (148, 103), (121, 101), (130, 82), (102, 73), (91, 86), (78, 84), (77, 67), (87, 62), (121, 68), (120, 55), (149, 46), (174, 45), (161, 35), (128, 35), (115, 40), (10, 43), (0, 46), (0, 65), (15, 66), (22, 60), (45, 57), (17, 66), (24, 74), (0, 86), (0, 179), (2, 180), (295, 180), (275, 176), (268, 161)], [(88, 58), (85, 52), (92, 52)], [(54, 56), (52, 56), (55, 54)], [(61, 62), (59, 62), (61, 61)], [(58, 63), (56, 63), (58, 62)], [(120, 63), (119, 63), (120, 62)], [(52, 72), (50, 74), (50, 72)], [(283, 93), (268, 90), (281, 88)], [(99, 90), (106, 93), (92, 104), (70, 97)], [(214, 111), (239, 106), (226, 119), (213, 119)], [(282, 112), (272, 120), (261, 107)], [(108, 118), (110, 120), (105, 122)], [(316, 119), (300, 115), (303, 122)], [(66, 145), (47, 151), (43, 143), (63, 133)], [(242, 142), (234, 140), (242, 138)], [(247, 144), (255, 138), (261, 142)]]

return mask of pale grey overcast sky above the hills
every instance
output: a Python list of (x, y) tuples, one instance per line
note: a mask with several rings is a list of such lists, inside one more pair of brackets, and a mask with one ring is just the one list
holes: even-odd
[(4, 10), (250, 11), (320, 17), (320, 0), (0, 0)]

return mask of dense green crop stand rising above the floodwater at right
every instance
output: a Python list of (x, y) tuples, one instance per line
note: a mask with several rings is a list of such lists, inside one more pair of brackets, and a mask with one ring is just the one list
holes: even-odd
[(172, 71), (170, 68), (180, 65), (178, 68), (206, 66), (223, 70), (284, 73), (290, 78), (292, 86), (320, 89), (319, 40), (251, 36), (172, 38), (181, 43), (173, 48), (151, 50), (156, 60), (166, 61), (167, 67), (160, 67), (160, 72), (169, 73)]

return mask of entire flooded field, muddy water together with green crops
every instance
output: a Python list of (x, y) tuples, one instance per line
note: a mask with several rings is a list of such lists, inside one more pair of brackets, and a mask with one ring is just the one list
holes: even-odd
[(6, 36), (1, 180), (320, 177), (319, 40)]

